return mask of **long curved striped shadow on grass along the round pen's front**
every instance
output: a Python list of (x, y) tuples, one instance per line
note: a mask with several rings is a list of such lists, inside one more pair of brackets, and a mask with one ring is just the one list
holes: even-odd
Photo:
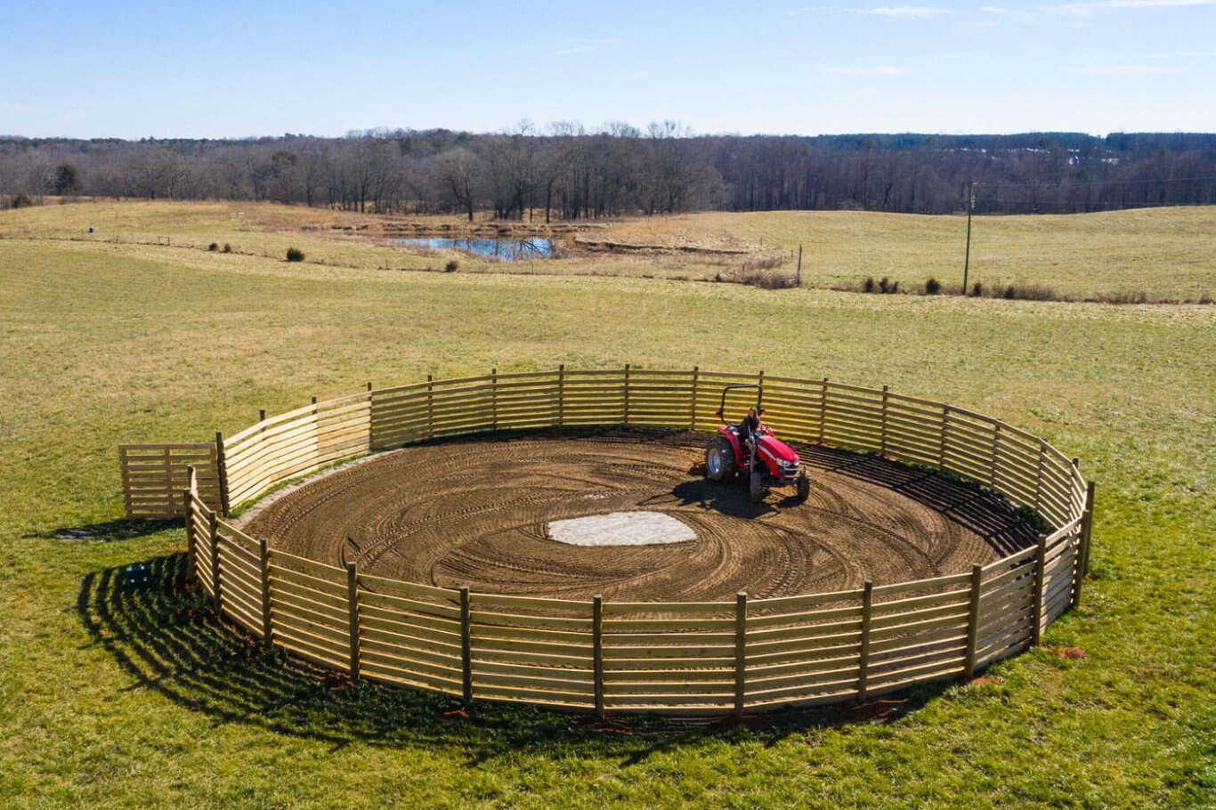
[(422, 690), (371, 682), (351, 685), (342, 673), (314, 666), (216, 619), (210, 597), (186, 579), (185, 555), (157, 557), (143, 584), (126, 566), (88, 574), (77, 612), (101, 645), (146, 688), (214, 719), (340, 748), (455, 746), (469, 764), (513, 752), (553, 756), (598, 755), (623, 765), (697, 738), (756, 738), (770, 744), (814, 729), (890, 722), (922, 707), (945, 685), (923, 687), (866, 705), (782, 710), (742, 720), (680, 721), (629, 716), (597, 721), (531, 707), (475, 703)]

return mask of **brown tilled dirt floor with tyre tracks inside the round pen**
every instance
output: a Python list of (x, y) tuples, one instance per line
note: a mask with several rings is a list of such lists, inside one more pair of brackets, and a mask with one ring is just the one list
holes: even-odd
[[(610, 432), (441, 441), (381, 454), (248, 512), (288, 552), (415, 583), (561, 598), (733, 600), (955, 574), (1035, 541), (1000, 499), (874, 456), (794, 445), (811, 476), (753, 505), (703, 477), (705, 433)], [(582, 547), (551, 521), (664, 512), (697, 539)]]

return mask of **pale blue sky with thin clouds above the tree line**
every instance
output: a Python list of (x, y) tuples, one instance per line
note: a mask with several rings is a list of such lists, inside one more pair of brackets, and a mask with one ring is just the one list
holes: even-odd
[(1216, 131), (1216, 0), (0, 4), (0, 134)]

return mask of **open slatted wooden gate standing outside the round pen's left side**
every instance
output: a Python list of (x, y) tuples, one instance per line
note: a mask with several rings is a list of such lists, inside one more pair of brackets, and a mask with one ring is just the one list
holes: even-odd
[(123, 471), (123, 500), (129, 518), (174, 518), (185, 514), (181, 490), (188, 486), (193, 467), (198, 497), (220, 508), (219, 466), (214, 443), (122, 444), (118, 460)]

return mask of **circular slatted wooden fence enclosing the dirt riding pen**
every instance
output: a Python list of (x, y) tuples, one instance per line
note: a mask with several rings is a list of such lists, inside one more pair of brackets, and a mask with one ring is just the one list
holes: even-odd
[[(626, 603), (370, 576), (355, 563), (343, 569), (269, 549), (225, 519), (230, 505), (287, 479), (437, 437), (576, 426), (710, 429), (731, 383), (761, 386), (766, 422), (783, 438), (956, 473), (1034, 510), (1049, 533), (963, 574), (782, 598)], [(124, 454), (137, 461), (156, 456), (152, 448)], [(1038, 642), (1080, 598), (1088, 557), (1093, 488), (1046, 441), (952, 405), (828, 379), (629, 366), (428, 378), (263, 418), (231, 438), (216, 435), (213, 450), (191, 451), (215, 459), (207, 485), (193, 466), (185, 479), (165, 467), (154, 480), (185, 486), (173, 502), (186, 513), (191, 570), (216, 609), (268, 645), (355, 677), (466, 701), (715, 715), (972, 676)]]

